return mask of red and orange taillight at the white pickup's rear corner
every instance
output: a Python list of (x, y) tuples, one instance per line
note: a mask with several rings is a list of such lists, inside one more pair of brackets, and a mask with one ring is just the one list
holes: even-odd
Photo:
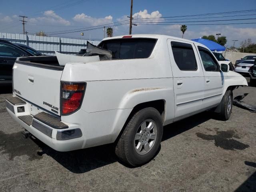
[(86, 83), (61, 82), (61, 114), (68, 115), (78, 110), (82, 104)]

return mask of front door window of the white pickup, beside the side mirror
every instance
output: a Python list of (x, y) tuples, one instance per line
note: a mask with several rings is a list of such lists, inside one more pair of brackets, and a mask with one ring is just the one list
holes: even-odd
[(198, 50), (206, 71), (220, 71), (220, 65), (209, 50), (200, 46), (198, 46)]

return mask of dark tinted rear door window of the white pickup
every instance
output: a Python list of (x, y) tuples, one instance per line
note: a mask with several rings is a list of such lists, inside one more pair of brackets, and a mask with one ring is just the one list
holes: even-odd
[(180, 70), (196, 71), (196, 57), (191, 44), (171, 42), (174, 60)]

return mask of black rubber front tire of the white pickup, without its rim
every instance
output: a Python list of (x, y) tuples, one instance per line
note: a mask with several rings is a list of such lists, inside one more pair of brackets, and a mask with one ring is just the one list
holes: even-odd
[[(228, 112), (228, 98), (230, 97), (231, 99), (231, 106), (230, 110)], [(233, 93), (232, 90), (227, 90), (226, 93), (224, 94), (221, 102), (221, 111), (220, 111), (220, 119), (221, 120), (228, 120), (230, 118), (231, 112), (232, 112), (232, 107), (233, 107)]]

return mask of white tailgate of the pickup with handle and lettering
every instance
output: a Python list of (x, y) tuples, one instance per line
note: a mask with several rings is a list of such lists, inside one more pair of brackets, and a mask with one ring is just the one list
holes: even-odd
[(13, 91), (33, 106), (60, 115), (61, 75), (60, 69), (16, 61), (13, 67)]

